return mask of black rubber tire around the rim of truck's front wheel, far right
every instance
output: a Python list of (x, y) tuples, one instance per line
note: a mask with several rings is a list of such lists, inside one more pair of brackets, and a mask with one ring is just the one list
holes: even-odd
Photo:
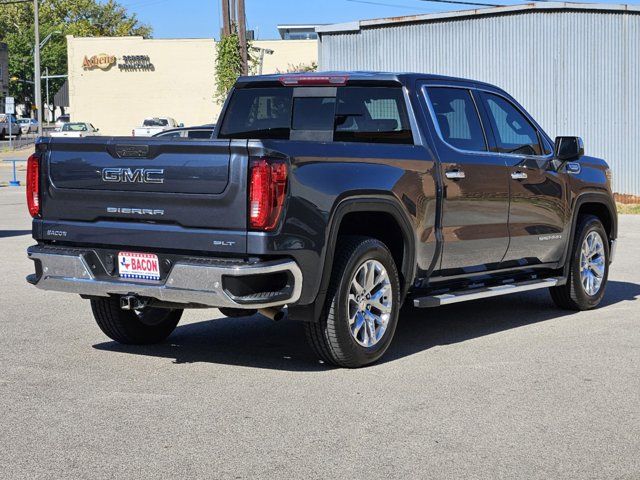
[[(595, 295), (589, 295), (582, 285), (580, 279), (580, 253), (584, 239), (591, 232), (597, 232), (603, 240), (604, 247), (604, 275), (600, 289)], [(581, 215), (578, 218), (576, 226), (575, 238), (571, 249), (569, 261), (569, 277), (567, 283), (558, 287), (551, 287), (551, 298), (555, 304), (567, 310), (590, 310), (596, 308), (602, 298), (607, 287), (607, 279), (609, 278), (609, 237), (602, 226), (602, 222), (598, 217), (593, 215)]]

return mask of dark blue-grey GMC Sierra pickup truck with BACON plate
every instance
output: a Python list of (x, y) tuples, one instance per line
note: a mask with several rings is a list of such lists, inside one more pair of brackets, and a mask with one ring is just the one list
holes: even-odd
[(220, 118), (214, 139), (178, 149), (39, 140), (28, 281), (89, 299), (126, 344), (163, 341), (186, 308), (286, 312), (343, 367), (384, 354), (405, 303), (549, 289), (559, 307), (586, 310), (605, 295), (609, 166), (578, 137), (554, 142), (493, 85), (241, 77)]

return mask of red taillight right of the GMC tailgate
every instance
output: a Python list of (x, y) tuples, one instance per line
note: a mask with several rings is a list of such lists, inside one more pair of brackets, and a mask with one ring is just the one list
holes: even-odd
[(260, 158), (251, 162), (249, 177), (249, 227), (273, 230), (278, 224), (287, 193), (287, 164)]

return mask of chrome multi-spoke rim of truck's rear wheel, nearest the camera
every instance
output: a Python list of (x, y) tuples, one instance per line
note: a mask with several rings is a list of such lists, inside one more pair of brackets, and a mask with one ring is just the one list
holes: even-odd
[(367, 260), (356, 270), (349, 288), (349, 329), (363, 347), (372, 347), (383, 337), (391, 318), (393, 291), (382, 263)]

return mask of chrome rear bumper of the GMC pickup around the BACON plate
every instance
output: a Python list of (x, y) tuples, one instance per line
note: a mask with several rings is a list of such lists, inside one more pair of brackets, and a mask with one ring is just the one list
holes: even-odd
[[(302, 272), (293, 260), (243, 263), (185, 257), (173, 264), (164, 281), (156, 282), (96, 274), (87, 262), (91, 250), (35, 245), (27, 253), (36, 262), (29, 283), (90, 297), (134, 295), (185, 305), (256, 309), (295, 303), (302, 290)], [(272, 284), (277, 284), (275, 291)]]

